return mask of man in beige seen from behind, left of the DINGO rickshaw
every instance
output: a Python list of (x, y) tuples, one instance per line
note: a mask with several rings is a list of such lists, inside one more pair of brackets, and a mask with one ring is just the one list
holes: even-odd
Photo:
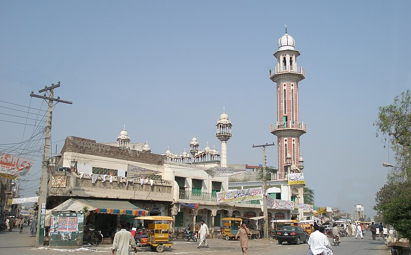
[(130, 255), (129, 246), (131, 245), (134, 248), (134, 251), (137, 252), (136, 241), (132, 233), (128, 232), (125, 228), (127, 223), (120, 222), (121, 230), (118, 231), (113, 240), (113, 246), (111, 247), (112, 255)]

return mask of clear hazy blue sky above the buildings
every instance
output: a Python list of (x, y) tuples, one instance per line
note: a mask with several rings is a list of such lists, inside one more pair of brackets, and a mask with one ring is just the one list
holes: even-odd
[[(409, 1), (0, 1), (0, 150), (36, 160), (21, 181), (21, 195), (34, 195), (46, 102), (29, 94), (60, 81), (54, 96), (73, 104), (54, 106), (53, 154), (70, 135), (115, 142), (123, 125), (153, 153), (180, 154), (193, 135), (220, 151), (225, 107), (228, 164), (261, 164), (252, 145), (277, 144), (269, 70), (287, 24), (306, 71), (306, 186), (317, 206), (362, 204), (372, 218), (382, 162), (394, 161), (373, 123), (411, 87), (409, 10)], [(267, 148), (269, 166), (276, 155)]]

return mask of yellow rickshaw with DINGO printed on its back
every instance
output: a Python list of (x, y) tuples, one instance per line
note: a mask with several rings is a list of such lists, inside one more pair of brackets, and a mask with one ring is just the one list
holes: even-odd
[(152, 251), (163, 252), (164, 248), (171, 248), (173, 242), (171, 240), (170, 222), (172, 217), (167, 216), (141, 216), (136, 220), (148, 221), (148, 244)]

